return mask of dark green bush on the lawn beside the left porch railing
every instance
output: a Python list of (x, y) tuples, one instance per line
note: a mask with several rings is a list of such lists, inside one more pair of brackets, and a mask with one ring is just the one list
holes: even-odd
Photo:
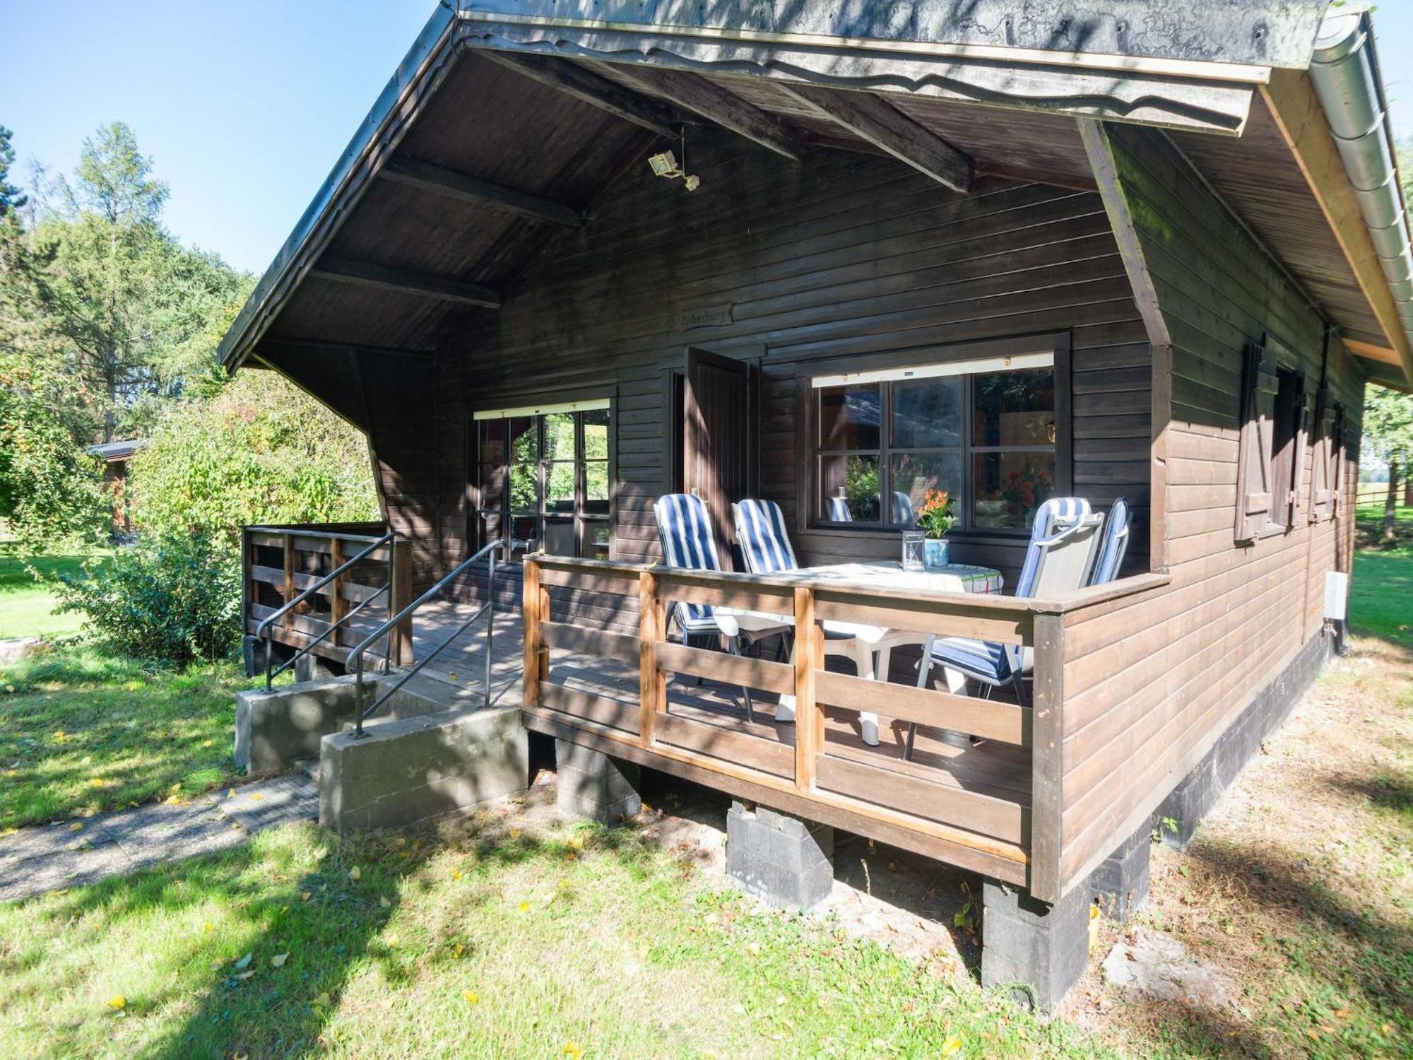
[(175, 664), (215, 661), (240, 642), (239, 554), (209, 534), (144, 537), (62, 577), (57, 611), (83, 615), (105, 646)]

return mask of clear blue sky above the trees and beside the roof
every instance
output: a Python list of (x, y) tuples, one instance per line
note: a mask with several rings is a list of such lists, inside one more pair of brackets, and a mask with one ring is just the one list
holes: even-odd
[[(431, 16), (432, 0), (0, 0), (0, 124), (68, 172), (120, 119), (171, 185), (167, 226), (263, 271)], [(1413, 0), (1375, 13), (1395, 130), (1413, 136)]]

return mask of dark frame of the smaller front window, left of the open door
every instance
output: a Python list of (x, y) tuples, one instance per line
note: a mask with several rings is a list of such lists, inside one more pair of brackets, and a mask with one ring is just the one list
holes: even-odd
[[(606, 401), (606, 404), (603, 404)], [(565, 406), (589, 406), (585, 408), (567, 408)], [(487, 414), (489, 413), (489, 414)], [(558, 413), (569, 413), (574, 417), (574, 455), (569, 461), (564, 459), (547, 459), (545, 458), (545, 421), (548, 417)], [(585, 445), (585, 430), (584, 430), (584, 416), (586, 413), (606, 413), (608, 414), (608, 457), (606, 459), (595, 458), (589, 459), (586, 457)], [(509, 438), (509, 431), (506, 432), (504, 455), (500, 464), (489, 465), (482, 461), (482, 444), (480, 444), (480, 424), (490, 420), (500, 420), (502, 423), (509, 423), (510, 420), (530, 418), (536, 421), (536, 510), (527, 512), (521, 509), (512, 507), (512, 488), (510, 488), (510, 468), (516, 461), (512, 457), (512, 445)], [(473, 548), (483, 548), (490, 544), (492, 537), (485, 534), (485, 516), (499, 516), (500, 519), (500, 533), (497, 538), (504, 543), (507, 550), (507, 557), (510, 560), (519, 561), (523, 558), (524, 553), (520, 555), (514, 554), (514, 544), (512, 537), (512, 530), (514, 527), (516, 519), (534, 519), (536, 530), (534, 537), (527, 538), (524, 551), (543, 551), (545, 546), (545, 526), (554, 522), (572, 522), (574, 524), (574, 555), (582, 558), (585, 555), (585, 543), (589, 527), (605, 526), (608, 527), (608, 555), (612, 560), (617, 553), (616, 543), (616, 489), (615, 482), (617, 481), (617, 400), (613, 396), (603, 397), (602, 393), (585, 394), (578, 399), (567, 399), (560, 403), (545, 401), (538, 407), (510, 407), (510, 408), (490, 408), (490, 410), (475, 410), (468, 416), (468, 482), (466, 482), (466, 540)], [(572, 513), (565, 512), (551, 512), (548, 509), (548, 475), (551, 464), (567, 464), (574, 465), (574, 505)], [(602, 462), (606, 465), (608, 473), (608, 497), (606, 510), (603, 513), (588, 513), (585, 506), (588, 503), (588, 466), (589, 464)], [(482, 503), (485, 493), (485, 481), (482, 478), (482, 469), (486, 466), (495, 466), (503, 476), (504, 486), (502, 489), (500, 505), (497, 507), (487, 507)]]

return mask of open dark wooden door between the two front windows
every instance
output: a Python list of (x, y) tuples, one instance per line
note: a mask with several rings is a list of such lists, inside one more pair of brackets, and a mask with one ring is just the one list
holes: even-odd
[[(736, 540), (731, 503), (750, 492), (750, 365), (687, 348), (682, 393), (682, 489), (706, 502), (718, 544)], [(722, 554), (725, 560), (725, 554)]]

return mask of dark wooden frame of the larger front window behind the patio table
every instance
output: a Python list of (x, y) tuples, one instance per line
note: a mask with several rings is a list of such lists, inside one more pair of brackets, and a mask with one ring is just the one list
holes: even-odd
[[(957, 452), (962, 468), (962, 496), (958, 497), (958, 509), (962, 517), (948, 533), (952, 540), (1000, 540), (1013, 541), (1027, 537), (1030, 527), (976, 527), (972, 526), (972, 462), (974, 457), (982, 452), (1048, 452), (1048, 445), (975, 445), (972, 444), (974, 430), (974, 380), (986, 372), (965, 373), (962, 393), (962, 424), (959, 445), (906, 448), (892, 445), (892, 396), (890, 387), (880, 386), (879, 407), (882, 423), (879, 424), (877, 449), (821, 449), (820, 438), (820, 389), (812, 380), (829, 375), (855, 375), (866, 372), (890, 370), (900, 367), (948, 365), (962, 360), (983, 360), (1007, 356), (1024, 356), (1033, 353), (1048, 353), (1053, 358), (1051, 372), (1054, 376), (1056, 396), (1056, 496), (1068, 496), (1072, 490), (1074, 478), (1074, 394), (1070, 375), (1070, 334), (1058, 332), (1041, 336), (1017, 336), (1003, 339), (986, 339), (981, 342), (957, 343), (948, 346), (916, 346), (909, 349), (887, 351), (866, 356), (845, 356), (825, 360), (803, 362), (798, 376), (797, 400), (800, 432), (797, 445), (800, 459), (797, 461), (797, 519), (796, 527), (801, 533), (848, 533), (848, 534), (897, 534), (903, 527), (887, 522), (892, 519), (892, 496), (889, 490), (880, 488), (879, 507), (880, 520), (876, 523), (836, 522), (824, 519), (820, 507), (820, 461), (828, 455), (863, 455), (877, 454), (880, 473), (886, 475), (886, 461), (896, 452), (917, 454), (951, 454)], [(1013, 369), (1026, 370), (1026, 369)], [(861, 380), (862, 382), (862, 380)], [(897, 380), (892, 380), (897, 382)], [(892, 485), (889, 482), (889, 485)], [(889, 496), (882, 496), (889, 493)], [(886, 519), (885, 519), (886, 516)]]

